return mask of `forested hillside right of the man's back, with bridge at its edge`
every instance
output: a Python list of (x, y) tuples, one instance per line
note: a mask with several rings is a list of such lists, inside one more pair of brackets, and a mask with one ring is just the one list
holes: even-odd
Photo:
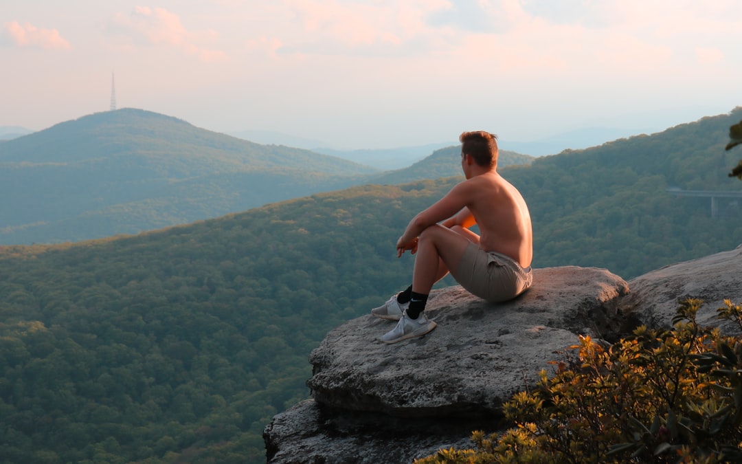
[(742, 205), (670, 189), (742, 192), (729, 178), (738, 156), (725, 151), (742, 108), (652, 135), (537, 158), (508, 170), (528, 200), (536, 265), (611, 269), (632, 278), (742, 243)]

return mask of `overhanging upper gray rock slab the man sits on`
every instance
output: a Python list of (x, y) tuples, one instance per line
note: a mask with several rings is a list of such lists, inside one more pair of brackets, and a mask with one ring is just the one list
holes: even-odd
[[(577, 333), (614, 332), (626, 281), (605, 269), (536, 269), (520, 298), (490, 304), (462, 287), (431, 294), (438, 323), (421, 339), (384, 344), (394, 322), (362, 316), (328, 333), (309, 355), (307, 385), (323, 405), (396, 416), (491, 416), (533, 385)], [(380, 298), (384, 299), (384, 298)]]

